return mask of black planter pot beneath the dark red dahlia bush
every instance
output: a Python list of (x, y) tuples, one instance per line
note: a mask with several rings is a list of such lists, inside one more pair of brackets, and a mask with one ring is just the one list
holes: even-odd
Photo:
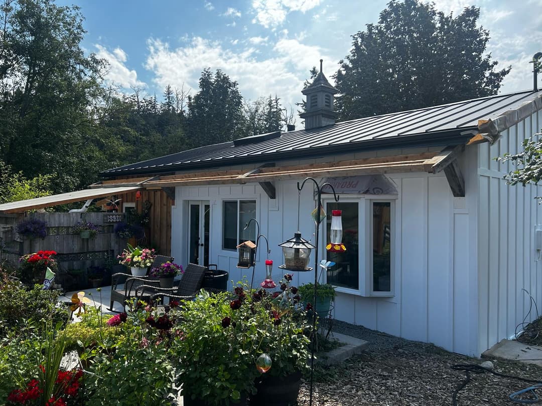
[(288, 376), (261, 375), (256, 379), (256, 394), (250, 396), (251, 405), (288, 406), (298, 400), (301, 372)]

